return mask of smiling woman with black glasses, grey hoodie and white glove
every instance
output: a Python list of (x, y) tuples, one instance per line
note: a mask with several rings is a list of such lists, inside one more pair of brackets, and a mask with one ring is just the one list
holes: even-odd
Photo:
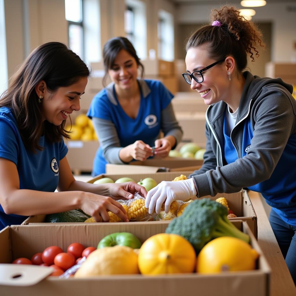
[(244, 71), (248, 57), (258, 56), (261, 38), (233, 7), (213, 10), (211, 24), (189, 38), (182, 75), (209, 105), (204, 163), (188, 180), (151, 189), (146, 207), (159, 213), (163, 202), (168, 211), (173, 200), (242, 188), (260, 192), (272, 207), (270, 223), (296, 281), (296, 101), (281, 78)]

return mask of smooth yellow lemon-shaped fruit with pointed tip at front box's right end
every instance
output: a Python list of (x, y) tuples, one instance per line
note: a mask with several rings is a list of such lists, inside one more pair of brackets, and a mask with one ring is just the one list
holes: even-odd
[(197, 256), (200, 274), (255, 269), (258, 253), (241, 239), (218, 237), (208, 242)]

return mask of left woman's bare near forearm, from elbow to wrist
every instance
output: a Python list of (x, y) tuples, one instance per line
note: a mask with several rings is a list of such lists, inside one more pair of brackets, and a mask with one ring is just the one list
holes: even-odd
[(2, 207), (7, 214), (38, 215), (60, 213), (80, 208), (83, 192), (43, 192), (17, 189), (4, 198)]

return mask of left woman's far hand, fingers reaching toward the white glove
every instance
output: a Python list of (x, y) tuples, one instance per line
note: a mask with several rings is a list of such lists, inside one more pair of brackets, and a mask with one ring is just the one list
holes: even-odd
[(110, 183), (108, 185), (109, 194), (114, 199), (131, 199), (136, 192), (143, 197), (147, 196), (147, 190), (145, 187), (135, 182)]

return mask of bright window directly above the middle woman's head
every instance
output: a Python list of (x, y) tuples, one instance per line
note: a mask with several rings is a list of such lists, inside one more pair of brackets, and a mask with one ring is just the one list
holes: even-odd
[(124, 30), (140, 59), (147, 58), (146, 4), (138, 0), (126, 0)]

